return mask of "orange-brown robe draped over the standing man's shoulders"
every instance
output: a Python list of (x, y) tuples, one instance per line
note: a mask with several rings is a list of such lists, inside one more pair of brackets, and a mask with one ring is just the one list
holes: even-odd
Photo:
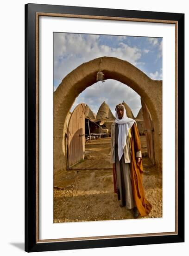
[[(137, 151), (141, 151), (140, 136), (137, 125), (134, 123), (131, 128), (131, 179), (132, 179), (132, 193), (137, 209), (141, 216), (146, 216), (150, 213), (152, 205), (145, 198), (145, 190), (143, 187), (143, 166), (142, 161), (136, 163), (135, 155)], [(113, 184), (114, 192), (117, 191), (116, 168), (113, 164)]]

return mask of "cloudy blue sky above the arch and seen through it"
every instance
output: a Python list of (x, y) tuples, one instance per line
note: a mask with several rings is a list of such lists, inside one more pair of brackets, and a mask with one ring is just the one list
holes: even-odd
[[(162, 38), (54, 33), (54, 90), (73, 69), (101, 56), (129, 61), (151, 79), (162, 80), (162, 42)], [(123, 100), (136, 116), (141, 108), (140, 96), (125, 84), (108, 79), (79, 94), (70, 111), (84, 102), (97, 113), (105, 101), (114, 115), (115, 105)]]

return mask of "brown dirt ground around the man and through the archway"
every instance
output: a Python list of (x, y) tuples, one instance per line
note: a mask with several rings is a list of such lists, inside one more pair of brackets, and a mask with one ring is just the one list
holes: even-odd
[[(141, 136), (143, 184), (145, 197), (151, 202), (149, 216), (162, 217), (162, 173), (146, 157), (145, 136)], [(120, 207), (113, 192), (113, 171), (110, 163), (110, 138), (86, 143), (86, 158), (69, 169), (54, 173), (54, 222), (86, 222), (133, 219), (132, 211)]]

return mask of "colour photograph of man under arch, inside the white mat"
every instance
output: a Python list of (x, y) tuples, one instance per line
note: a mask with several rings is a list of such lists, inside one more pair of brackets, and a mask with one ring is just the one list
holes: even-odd
[(162, 217), (163, 38), (53, 33), (53, 222)]

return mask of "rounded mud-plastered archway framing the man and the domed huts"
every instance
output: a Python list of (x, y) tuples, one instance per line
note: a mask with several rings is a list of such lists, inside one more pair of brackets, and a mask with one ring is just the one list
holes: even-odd
[(96, 82), (101, 71), (105, 79), (120, 81), (135, 90), (145, 101), (154, 123), (155, 162), (162, 166), (162, 81), (151, 80), (145, 73), (127, 61), (101, 57), (83, 63), (70, 72), (54, 92), (53, 162), (54, 170), (66, 171), (66, 117), (76, 97)]

